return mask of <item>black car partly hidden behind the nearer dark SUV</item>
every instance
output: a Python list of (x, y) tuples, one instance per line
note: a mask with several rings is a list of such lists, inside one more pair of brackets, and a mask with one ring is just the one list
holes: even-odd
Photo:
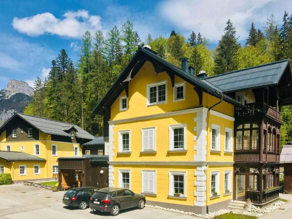
[(87, 208), (90, 197), (95, 191), (99, 190), (97, 187), (76, 187), (69, 189), (63, 197), (63, 204), (79, 207), (79, 209), (84, 210)]

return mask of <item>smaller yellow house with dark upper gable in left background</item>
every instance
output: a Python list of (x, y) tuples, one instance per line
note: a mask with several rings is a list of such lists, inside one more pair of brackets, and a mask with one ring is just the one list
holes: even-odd
[[(24, 152), (22, 154), (30, 154), (42, 160), (39, 161), (40, 174), (34, 174), (34, 163), (22, 161), (21, 165), (25, 166), (21, 168), (25, 168), (25, 174), (11, 174), (14, 183), (23, 180), (51, 180), (53, 174), (59, 172), (57, 159), (80, 157), (82, 143), (93, 138), (74, 124), (17, 113), (0, 127), (0, 151)], [(0, 159), (4, 173), (11, 173), (19, 167), (19, 162), (14, 161), (13, 164)]]

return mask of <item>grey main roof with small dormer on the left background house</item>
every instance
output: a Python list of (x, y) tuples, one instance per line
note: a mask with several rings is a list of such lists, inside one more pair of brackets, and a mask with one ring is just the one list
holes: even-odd
[(8, 121), (6, 121), (6, 123), (3, 124), (3, 126), (0, 127), (0, 132), (2, 129), (4, 129), (4, 126), (15, 116), (24, 119), (26, 122), (28, 122), (29, 124), (31, 124), (39, 131), (45, 134), (72, 137), (72, 135), (65, 132), (66, 130), (68, 130), (67, 128), (70, 127), (69, 129), (74, 128), (75, 130), (77, 130), (75, 134), (77, 138), (84, 138), (90, 140), (94, 139), (93, 135), (89, 134), (87, 131), (83, 130), (77, 125), (69, 124), (66, 122), (60, 122), (52, 119), (30, 116), (23, 113), (14, 114)]

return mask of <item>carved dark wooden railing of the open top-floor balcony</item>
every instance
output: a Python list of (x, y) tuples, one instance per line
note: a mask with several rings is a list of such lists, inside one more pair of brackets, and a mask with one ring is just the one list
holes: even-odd
[(267, 114), (273, 119), (281, 121), (281, 112), (271, 106), (268, 106), (266, 103), (248, 103), (246, 104), (246, 107), (246, 109), (235, 107), (235, 116), (244, 117)]

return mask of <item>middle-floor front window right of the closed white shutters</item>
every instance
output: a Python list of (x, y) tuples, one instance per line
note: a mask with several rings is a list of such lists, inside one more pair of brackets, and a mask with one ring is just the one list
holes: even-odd
[(169, 126), (169, 150), (186, 150), (187, 124)]

